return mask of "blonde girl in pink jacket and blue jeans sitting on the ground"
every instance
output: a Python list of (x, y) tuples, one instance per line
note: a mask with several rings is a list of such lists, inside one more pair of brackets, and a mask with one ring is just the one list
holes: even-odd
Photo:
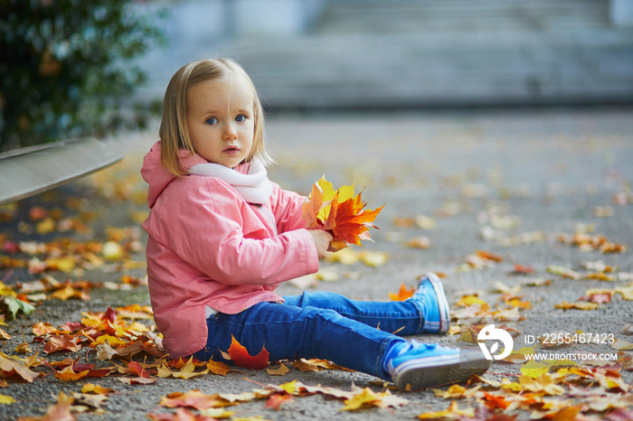
[(143, 223), (149, 294), (170, 356), (223, 360), (232, 335), (250, 353), (265, 344), (270, 360), (331, 360), (398, 388), (485, 372), (479, 351), (390, 333), (447, 332), (449, 304), (433, 274), (404, 302), (275, 293), (315, 273), (332, 237), (304, 228), (305, 197), (269, 182), (263, 123), (252, 81), (234, 61), (194, 61), (169, 82), (161, 140), (142, 174), (151, 208)]

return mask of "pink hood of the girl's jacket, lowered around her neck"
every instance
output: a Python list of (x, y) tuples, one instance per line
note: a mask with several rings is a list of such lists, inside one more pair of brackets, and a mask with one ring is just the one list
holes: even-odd
[[(160, 162), (160, 148), (161, 141), (156, 142), (149, 150), (149, 152), (143, 158), (143, 167), (141, 168), (141, 175), (143, 180), (149, 184), (149, 190), (147, 191), (147, 204), (149, 208), (153, 208), (158, 196), (165, 190), (165, 187), (175, 178), (178, 178), (173, 173), (169, 173), (163, 167)], [(190, 168), (195, 164), (207, 164), (207, 161), (198, 154), (189, 154), (189, 151), (181, 149), (178, 152), (184, 168)], [(248, 173), (249, 164), (240, 164), (235, 167), (235, 170), (239, 173)], [(188, 175), (185, 175), (187, 177)]]

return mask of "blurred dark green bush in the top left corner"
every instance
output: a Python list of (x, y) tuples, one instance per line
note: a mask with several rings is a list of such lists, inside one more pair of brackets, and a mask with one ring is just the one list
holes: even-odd
[(0, 152), (143, 126), (132, 64), (164, 42), (132, 0), (0, 0)]

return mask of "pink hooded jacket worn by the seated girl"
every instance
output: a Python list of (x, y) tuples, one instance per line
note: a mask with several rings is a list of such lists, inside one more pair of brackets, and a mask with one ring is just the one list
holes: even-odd
[[(197, 155), (184, 158), (185, 167), (205, 162)], [(247, 173), (248, 164), (236, 170)], [(172, 358), (204, 348), (207, 305), (233, 314), (253, 304), (281, 302), (275, 293), (281, 282), (318, 270), (316, 248), (301, 218), (306, 199), (297, 193), (272, 183), (270, 201), (260, 209), (220, 179), (166, 172), (160, 142), (146, 154), (141, 173), (149, 183), (151, 209), (143, 222), (149, 234), (149, 295)]]

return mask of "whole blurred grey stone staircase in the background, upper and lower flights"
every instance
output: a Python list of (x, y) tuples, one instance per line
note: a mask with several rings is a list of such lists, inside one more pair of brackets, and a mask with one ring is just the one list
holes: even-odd
[(267, 108), (633, 102), (606, 0), (335, 0), (300, 36), (222, 45)]

